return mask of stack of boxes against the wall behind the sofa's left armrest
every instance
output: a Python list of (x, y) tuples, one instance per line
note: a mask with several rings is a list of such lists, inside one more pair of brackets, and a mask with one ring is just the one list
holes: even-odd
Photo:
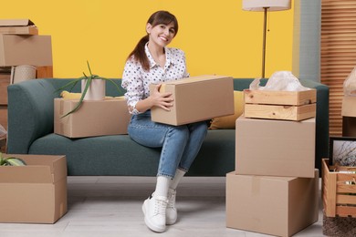
[(11, 69), (25, 65), (37, 67), (37, 77), (53, 77), (51, 36), (38, 36), (29, 19), (0, 19), (0, 124), (5, 129)]

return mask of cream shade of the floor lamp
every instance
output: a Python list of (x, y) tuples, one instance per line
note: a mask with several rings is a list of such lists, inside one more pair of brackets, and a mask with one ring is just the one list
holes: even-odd
[(282, 11), (290, 9), (290, 0), (243, 0), (242, 9), (245, 11), (263, 12)]

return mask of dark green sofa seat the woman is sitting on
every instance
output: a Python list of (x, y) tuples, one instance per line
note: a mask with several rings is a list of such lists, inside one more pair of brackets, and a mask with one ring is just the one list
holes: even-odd
[[(188, 175), (225, 176), (235, 169), (235, 130), (209, 130)], [(29, 154), (66, 155), (68, 175), (155, 176), (161, 149), (128, 135), (68, 139), (51, 133), (36, 139)]]

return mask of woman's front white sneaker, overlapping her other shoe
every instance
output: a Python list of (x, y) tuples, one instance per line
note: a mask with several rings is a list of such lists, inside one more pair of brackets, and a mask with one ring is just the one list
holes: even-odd
[(153, 232), (165, 231), (165, 211), (168, 200), (166, 197), (151, 195), (143, 202), (144, 222)]

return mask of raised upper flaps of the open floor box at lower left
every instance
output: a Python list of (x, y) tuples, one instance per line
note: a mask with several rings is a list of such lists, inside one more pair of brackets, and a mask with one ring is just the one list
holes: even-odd
[(26, 162), (26, 166), (0, 166), (3, 183), (55, 183), (67, 177), (65, 156), (4, 154)]

